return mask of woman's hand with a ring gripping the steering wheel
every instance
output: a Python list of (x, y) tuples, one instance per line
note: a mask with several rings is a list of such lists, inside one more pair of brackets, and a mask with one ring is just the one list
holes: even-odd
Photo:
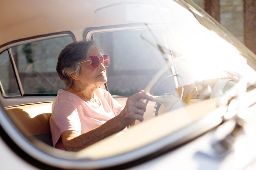
[(139, 121), (144, 120), (143, 115), (146, 111), (146, 104), (141, 99), (152, 100), (153, 97), (144, 91), (128, 97), (124, 110), (117, 116), (125, 126), (132, 124), (136, 119)]

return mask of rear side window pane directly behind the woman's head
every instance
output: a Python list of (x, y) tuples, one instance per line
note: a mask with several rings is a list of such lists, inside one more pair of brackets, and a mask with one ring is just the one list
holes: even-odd
[(55, 95), (65, 85), (56, 63), (61, 50), (73, 42), (70, 36), (29, 42), (11, 48), (24, 95)]

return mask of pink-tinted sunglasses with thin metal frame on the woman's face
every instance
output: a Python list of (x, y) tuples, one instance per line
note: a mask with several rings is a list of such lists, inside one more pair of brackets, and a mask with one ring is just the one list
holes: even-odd
[[(110, 57), (109, 57), (109, 55), (102, 55), (101, 59), (99, 59), (98, 56), (91, 55), (91, 56), (89, 56), (89, 60), (80, 62), (78, 64), (88, 62), (88, 61), (90, 62), (92, 68), (98, 68), (100, 63), (103, 64), (103, 66), (108, 67), (110, 64)], [(75, 64), (75, 65), (78, 65), (78, 64)]]

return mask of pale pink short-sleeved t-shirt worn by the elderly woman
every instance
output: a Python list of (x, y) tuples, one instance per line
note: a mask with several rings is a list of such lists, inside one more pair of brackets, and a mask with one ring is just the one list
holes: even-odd
[(63, 132), (75, 130), (83, 134), (101, 126), (109, 119), (119, 115), (124, 109), (123, 105), (102, 88), (95, 91), (94, 97), (99, 99), (100, 106), (88, 104), (74, 93), (58, 90), (52, 104), (52, 116), (50, 117), (52, 142), (55, 148), (64, 150), (62, 143), (58, 142)]

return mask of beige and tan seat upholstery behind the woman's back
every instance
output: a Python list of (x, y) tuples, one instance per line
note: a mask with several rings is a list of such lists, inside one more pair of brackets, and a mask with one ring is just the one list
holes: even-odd
[(52, 102), (27, 104), (5, 108), (13, 123), (27, 137), (37, 137), (52, 145), (49, 118)]

